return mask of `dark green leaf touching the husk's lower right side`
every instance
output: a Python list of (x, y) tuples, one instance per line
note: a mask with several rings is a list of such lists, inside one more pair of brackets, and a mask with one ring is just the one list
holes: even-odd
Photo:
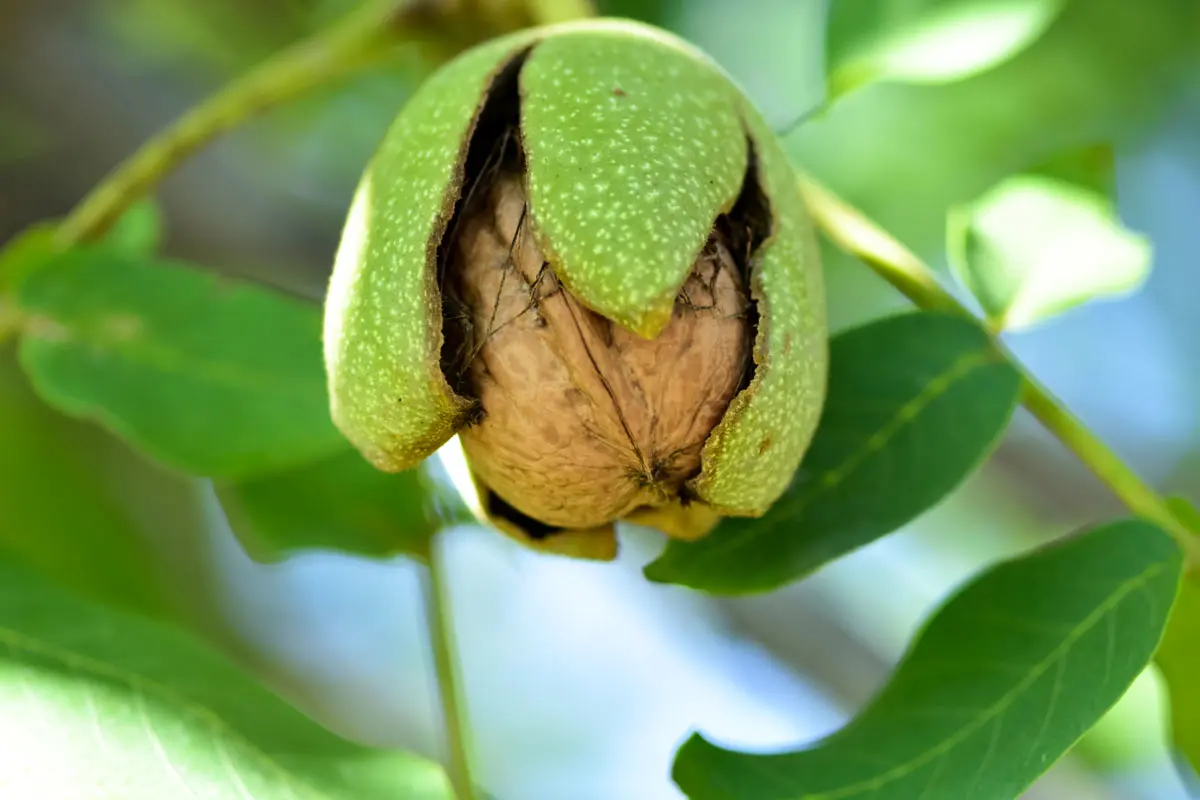
[(974, 323), (908, 313), (836, 336), (829, 393), (787, 493), (761, 519), (671, 542), (652, 581), (764, 591), (904, 525), (991, 451), (1020, 380)]

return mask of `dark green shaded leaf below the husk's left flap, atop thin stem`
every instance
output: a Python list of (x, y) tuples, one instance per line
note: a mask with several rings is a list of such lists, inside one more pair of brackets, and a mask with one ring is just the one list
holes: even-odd
[(247, 549), (268, 559), (307, 548), (420, 555), (438, 528), (416, 470), (382, 473), (353, 450), (218, 493)]

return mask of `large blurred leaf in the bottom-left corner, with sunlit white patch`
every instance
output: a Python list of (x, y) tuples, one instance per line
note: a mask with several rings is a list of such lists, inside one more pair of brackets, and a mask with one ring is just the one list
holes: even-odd
[(0, 557), (0, 796), (448, 800), (442, 770), (320, 728), (176, 628)]

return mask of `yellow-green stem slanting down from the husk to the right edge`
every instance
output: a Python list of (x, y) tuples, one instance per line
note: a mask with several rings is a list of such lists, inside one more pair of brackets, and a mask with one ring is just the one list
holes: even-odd
[[(835, 245), (875, 270), (884, 281), (920, 308), (974, 317), (944, 287), (928, 264), (895, 240), (863, 212), (832, 191), (798, 174), (797, 184), (812, 219)], [(996, 338), (996, 343), (1021, 375), (1021, 402), (1026, 409), (1073, 452), (1132, 512), (1169, 533), (1200, 565), (1200, 540), (1175, 518), (1166, 500), (1154, 492), (1112, 452), (1079, 417), (1046, 390)]]

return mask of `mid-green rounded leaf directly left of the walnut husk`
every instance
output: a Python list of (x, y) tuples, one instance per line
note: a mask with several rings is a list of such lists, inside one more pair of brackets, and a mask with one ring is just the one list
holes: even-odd
[(20, 287), (20, 361), (52, 405), (163, 463), (246, 477), (331, 455), (316, 308), (110, 248), (62, 254)]

